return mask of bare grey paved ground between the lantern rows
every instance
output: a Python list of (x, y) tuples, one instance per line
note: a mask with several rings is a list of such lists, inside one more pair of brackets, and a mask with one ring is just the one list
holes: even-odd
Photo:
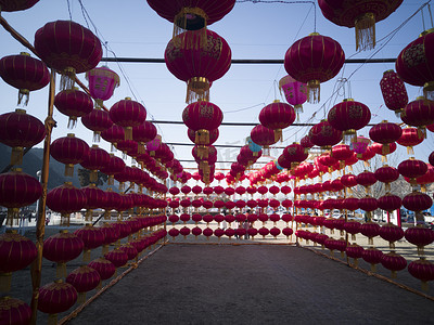
[(72, 324), (433, 324), (434, 302), (292, 246), (167, 245)]

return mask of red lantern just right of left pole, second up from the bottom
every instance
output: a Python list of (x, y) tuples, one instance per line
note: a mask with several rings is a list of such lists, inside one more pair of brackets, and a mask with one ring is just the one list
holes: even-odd
[(49, 261), (58, 263), (56, 277), (65, 277), (66, 262), (79, 257), (84, 247), (85, 243), (80, 237), (67, 230), (61, 230), (58, 234), (43, 240), (42, 256)]

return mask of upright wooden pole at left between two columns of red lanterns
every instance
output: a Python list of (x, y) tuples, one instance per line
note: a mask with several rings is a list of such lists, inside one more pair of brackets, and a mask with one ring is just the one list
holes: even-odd
[(53, 106), (54, 106), (54, 94), (55, 94), (55, 72), (51, 69), (50, 79), (50, 92), (48, 102), (48, 115), (46, 118), (46, 140), (43, 142), (43, 159), (41, 168), (41, 183), (42, 183), (42, 195), (39, 199), (38, 208), (38, 220), (36, 223), (36, 248), (38, 255), (35, 261), (31, 263), (31, 320), (30, 324), (36, 324), (38, 313), (38, 298), (39, 298), (39, 286), (41, 281), (41, 268), (42, 268), (42, 247), (43, 247), (43, 235), (46, 232), (46, 203), (47, 203), (47, 185), (49, 176), (50, 165), (50, 144), (51, 144), (51, 131), (55, 127), (55, 120), (53, 119)]

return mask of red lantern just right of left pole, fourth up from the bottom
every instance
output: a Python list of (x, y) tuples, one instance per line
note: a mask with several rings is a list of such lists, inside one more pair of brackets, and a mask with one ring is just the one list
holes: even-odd
[(50, 155), (59, 162), (65, 164), (65, 176), (73, 177), (74, 165), (80, 164), (89, 154), (88, 144), (74, 133), (59, 138), (51, 143)]

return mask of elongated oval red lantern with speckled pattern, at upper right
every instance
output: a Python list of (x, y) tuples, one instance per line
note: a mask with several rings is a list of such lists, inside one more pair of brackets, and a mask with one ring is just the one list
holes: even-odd
[(408, 94), (406, 86), (398, 74), (394, 70), (386, 70), (383, 74), (383, 78), (381, 78), (380, 88), (386, 107), (394, 110), (395, 114), (400, 114), (408, 104)]

